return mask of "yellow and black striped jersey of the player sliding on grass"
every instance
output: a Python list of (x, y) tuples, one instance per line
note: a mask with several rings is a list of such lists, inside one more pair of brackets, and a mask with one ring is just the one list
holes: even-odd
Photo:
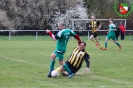
[(72, 54), (70, 55), (68, 62), (75, 68), (80, 68), (83, 61), (86, 61), (86, 65), (89, 68), (89, 53), (85, 50), (79, 50), (78, 47), (74, 48)]

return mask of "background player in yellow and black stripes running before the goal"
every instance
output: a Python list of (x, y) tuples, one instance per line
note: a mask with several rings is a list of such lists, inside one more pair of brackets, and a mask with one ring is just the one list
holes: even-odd
[(91, 14), (91, 21), (89, 23), (89, 27), (92, 29), (92, 35), (90, 36), (90, 40), (92, 40), (94, 43), (96, 43), (96, 47), (100, 46), (102, 48), (99, 40), (98, 40), (98, 30), (100, 29), (101, 25), (98, 20), (95, 19), (95, 15)]

